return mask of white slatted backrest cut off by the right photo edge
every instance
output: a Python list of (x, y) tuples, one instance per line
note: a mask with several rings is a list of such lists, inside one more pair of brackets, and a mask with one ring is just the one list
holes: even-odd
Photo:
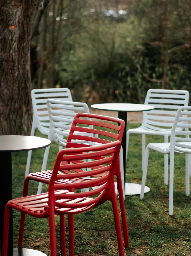
[[(186, 153), (191, 149), (191, 107), (179, 107), (172, 126), (170, 137), (171, 149), (176, 147), (176, 151)], [(182, 131), (184, 129), (184, 131)], [(181, 135), (181, 136), (178, 136)], [(180, 143), (184, 142), (184, 143)], [(181, 147), (177, 148), (177, 147)]]

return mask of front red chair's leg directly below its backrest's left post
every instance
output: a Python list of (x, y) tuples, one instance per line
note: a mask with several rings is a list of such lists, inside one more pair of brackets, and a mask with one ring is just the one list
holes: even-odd
[(54, 222), (54, 212), (49, 212), (49, 230), (50, 230), (50, 255), (57, 256), (56, 250), (56, 231)]

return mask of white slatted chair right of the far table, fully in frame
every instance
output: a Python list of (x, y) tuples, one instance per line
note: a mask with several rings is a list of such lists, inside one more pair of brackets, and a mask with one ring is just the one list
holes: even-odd
[[(146, 134), (164, 136), (168, 142), (171, 135), (172, 124), (180, 106), (188, 106), (189, 92), (181, 90), (150, 89), (147, 92), (145, 103), (154, 106), (151, 111), (143, 112), (141, 127), (127, 131), (126, 159), (129, 145), (129, 134), (142, 134), (142, 169), (145, 158)], [(179, 129), (182, 130), (182, 127)], [(168, 155), (164, 156), (164, 183), (168, 185)]]

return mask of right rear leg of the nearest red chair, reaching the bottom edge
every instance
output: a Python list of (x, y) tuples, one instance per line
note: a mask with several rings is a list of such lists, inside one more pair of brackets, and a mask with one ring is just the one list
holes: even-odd
[(125, 256), (116, 195), (113, 196), (112, 206), (113, 206), (113, 216), (114, 216), (114, 221), (115, 221), (115, 230), (116, 230), (116, 235), (117, 235), (119, 256)]

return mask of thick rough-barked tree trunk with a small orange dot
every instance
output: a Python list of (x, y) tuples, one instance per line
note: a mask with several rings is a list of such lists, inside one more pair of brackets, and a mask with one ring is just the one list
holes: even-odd
[(0, 1), (0, 135), (30, 134), (30, 44), (40, 2)]

